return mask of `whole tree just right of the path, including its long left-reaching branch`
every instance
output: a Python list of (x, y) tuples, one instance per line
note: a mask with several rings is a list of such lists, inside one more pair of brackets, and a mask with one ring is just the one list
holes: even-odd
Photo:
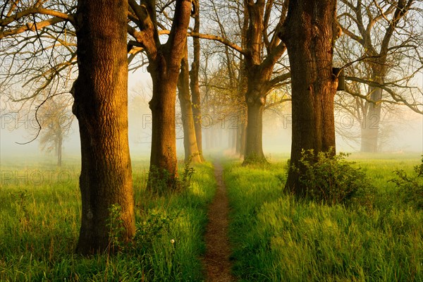
[[(287, 3), (288, 1), (281, 3), (281, 1), (273, 0), (245, 0), (241, 4), (240, 1), (220, 2), (215, 0), (211, 2), (214, 14), (212, 18), (219, 27), (220, 36), (190, 33), (193, 37), (221, 42), (239, 53), (242, 70), (238, 82), (246, 84), (238, 87), (239, 94), (245, 97), (247, 104), (245, 164), (266, 161), (262, 145), (263, 111), (266, 96), (274, 87), (278, 87), (281, 82), (290, 77), (288, 71), (281, 73), (282, 70), (275, 69), (276, 63), (286, 51), (285, 44), (281, 43), (277, 33), (283, 24)], [(240, 41), (240, 46), (235, 41), (228, 39), (228, 32), (223, 24), (224, 20), (221, 18), (226, 19), (230, 16), (219, 13), (218, 10), (221, 11), (222, 8), (228, 10), (227, 15), (232, 16), (235, 13), (235, 27), (239, 30), (236, 32), (238, 37), (235, 36), (234, 39)], [(273, 16), (275, 11), (281, 15), (276, 23)], [(228, 20), (233, 23), (232, 18), (228, 18)], [(232, 25), (228, 27), (229, 30), (233, 28)], [(225, 48), (224, 56), (230, 66), (228, 48)], [(231, 71), (229, 67), (228, 73), (233, 77)]]

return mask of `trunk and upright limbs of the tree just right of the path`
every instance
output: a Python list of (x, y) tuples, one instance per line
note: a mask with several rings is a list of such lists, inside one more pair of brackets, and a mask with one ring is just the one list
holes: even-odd
[[(287, 1), (286, 1), (287, 2)], [(286, 5), (285, 4), (283, 5)], [(278, 82), (289, 78), (285, 73), (272, 78), (274, 66), (286, 51), (285, 44), (277, 36), (285, 20), (286, 6), (283, 6), (281, 17), (273, 31), (267, 30), (270, 26), (271, 10), (274, 1), (245, 1), (247, 18), (249, 20), (245, 49), (245, 69), (247, 75), (247, 140), (245, 142), (246, 164), (255, 161), (265, 161), (262, 145), (263, 111), (266, 96)], [(269, 34), (273, 33), (272, 37)], [(262, 54), (266, 48), (266, 57)]]

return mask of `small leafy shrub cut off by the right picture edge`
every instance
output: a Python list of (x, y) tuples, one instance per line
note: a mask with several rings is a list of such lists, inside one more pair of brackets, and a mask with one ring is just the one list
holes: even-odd
[(422, 164), (415, 166), (414, 171), (416, 176), (407, 176), (407, 173), (402, 169), (393, 171), (396, 178), (390, 181), (396, 184), (407, 202), (417, 209), (423, 209), (423, 156)]

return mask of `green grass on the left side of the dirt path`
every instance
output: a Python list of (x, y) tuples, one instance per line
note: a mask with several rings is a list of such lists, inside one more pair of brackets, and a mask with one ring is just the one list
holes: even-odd
[(216, 187), (213, 168), (196, 166), (188, 190), (158, 197), (144, 188), (147, 167), (133, 162), (142, 245), (114, 256), (80, 257), (73, 255), (80, 227), (78, 161), (60, 170), (45, 161), (3, 163), (0, 281), (202, 281), (199, 257)]

